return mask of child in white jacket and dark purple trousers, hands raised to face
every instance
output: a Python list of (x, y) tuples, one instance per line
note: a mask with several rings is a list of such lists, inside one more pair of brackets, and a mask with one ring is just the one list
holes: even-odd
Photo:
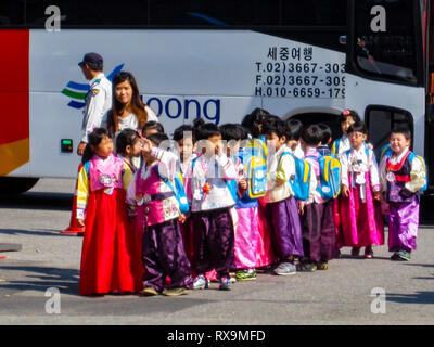
[(217, 272), (219, 290), (230, 291), (229, 270), (233, 269), (234, 230), (231, 208), (235, 205), (229, 181), (238, 172), (232, 160), (222, 152), (221, 133), (212, 123), (195, 123), (196, 149), (186, 176), (186, 192), (191, 201), (194, 232), (199, 232), (200, 246), (194, 254), (199, 275), (194, 288), (208, 286), (205, 272)]

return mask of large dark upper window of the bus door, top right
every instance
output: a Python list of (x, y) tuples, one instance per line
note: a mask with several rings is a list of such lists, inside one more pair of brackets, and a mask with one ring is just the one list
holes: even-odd
[(355, 59), (370, 76), (417, 83), (413, 0), (355, 2)]

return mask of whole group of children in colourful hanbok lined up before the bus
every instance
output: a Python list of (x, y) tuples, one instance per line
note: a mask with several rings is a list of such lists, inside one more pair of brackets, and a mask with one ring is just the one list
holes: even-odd
[[(142, 133), (120, 131), (116, 155), (110, 133), (95, 129), (78, 176), (80, 294), (178, 296), (213, 280), (228, 291), (257, 268), (327, 270), (344, 246), (372, 258), (386, 209), (391, 259), (409, 260), (425, 184), (410, 131), (392, 130), (378, 165), (357, 113), (345, 110), (341, 126), (330, 150), (327, 125), (303, 127), (260, 108), (241, 125), (196, 119), (171, 141), (154, 121)], [(339, 159), (339, 196), (326, 194), (324, 158)]]

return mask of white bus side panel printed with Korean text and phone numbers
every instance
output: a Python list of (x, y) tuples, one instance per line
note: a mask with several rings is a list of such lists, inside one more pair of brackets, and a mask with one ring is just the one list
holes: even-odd
[[(30, 156), (11, 176), (76, 176), (87, 88), (77, 63), (90, 51), (103, 55), (106, 76), (135, 75), (169, 136), (197, 116), (221, 125), (256, 107), (288, 117), (344, 105), (345, 54), (248, 30), (35, 29), (28, 50)], [(73, 140), (72, 153), (61, 153), (61, 139)]]

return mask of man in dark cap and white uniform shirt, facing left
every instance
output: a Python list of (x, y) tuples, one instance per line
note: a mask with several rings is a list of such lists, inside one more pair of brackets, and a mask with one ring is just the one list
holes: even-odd
[(82, 155), (88, 143), (88, 134), (101, 126), (103, 116), (112, 107), (112, 83), (103, 74), (104, 65), (100, 54), (86, 53), (78, 66), (81, 67), (90, 85), (84, 110), (81, 142), (77, 147), (77, 154)]

